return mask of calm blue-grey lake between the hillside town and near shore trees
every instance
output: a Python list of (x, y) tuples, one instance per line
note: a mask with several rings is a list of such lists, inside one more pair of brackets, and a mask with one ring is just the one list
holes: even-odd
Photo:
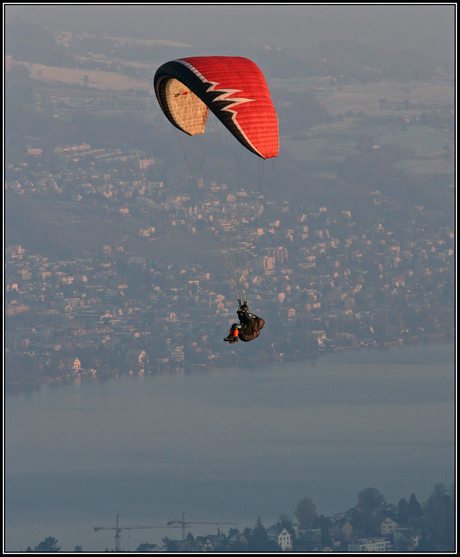
[[(454, 380), (453, 347), (436, 344), (7, 396), (5, 549), (113, 549), (93, 527), (116, 515), (268, 527), (304, 496), (331, 515), (369, 486), (423, 503), (454, 482)], [(125, 530), (122, 548), (164, 536), (181, 530)]]

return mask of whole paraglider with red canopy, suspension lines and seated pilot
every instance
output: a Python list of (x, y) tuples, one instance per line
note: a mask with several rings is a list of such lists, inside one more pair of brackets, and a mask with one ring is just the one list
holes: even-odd
[[(196, 56), (163, 64), (156, 71), (154, 88), (165, 116), (188, 136), (205, 134), (210, 113), (223, 125), (223, 135), (208, 144), (203, 149), (203, 155), (197, 154), (199, 150), (195, 144), (190, 147), (193, 164), (189, 166), (201, 173), (197, 179), (199, 187), (206, 189), (205, 182), (208, 181), (208, 190), (212, 189), (214, 193), (220, 189), (223, 195), (224, 202), (219, 203), (210, 192), (206, 200), (208, 220), (239, 301), (240, 324), (233, 331), (239, 332), (241, 340), (252, 340), (259, 336), (263, 320), (254, 315), (257, 320), (260, 319), (254, 321), (250, 317), (253, 314), (247, 312), (246, 304), (243, 304), (246, 311), (241, 311), (240, 299), (247, 299), (251, 258), (254, 257), (248, 246), (251, 246), (254, 227), (263, 212), (263, 205), (260, 191), (248, 192), (245, 185), (255, 189), (251, 184), (253, 178), (248, 178), (251, 159), (273, 159), (279, 152), (278, 119), (267, 83), (258, 66), (247, 58)], [(235, 154), (233, 144), (228, 143), (232, 137), (249, 156)], [(246, 163), (248, 159), (249, 163)], [(214, 177), (211, 174), (205, 176), (215, 164), (219, 168)], [(250, 199), (248, 193), (256, 193), (256, 199)], [(255, 323), (258, 325), (254, 327)], [(245, 327), (254, 330), (245, 335)]]

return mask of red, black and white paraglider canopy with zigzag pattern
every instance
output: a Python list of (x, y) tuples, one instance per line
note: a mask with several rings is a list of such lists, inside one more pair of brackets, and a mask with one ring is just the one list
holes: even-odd
[(204, 132), (209, 110), (247, 149), (278, 156), (278, 119), (265, 78), (247, 58), (196, 56), (163, 64), (154, 79), (158, 102), (176, 127)]

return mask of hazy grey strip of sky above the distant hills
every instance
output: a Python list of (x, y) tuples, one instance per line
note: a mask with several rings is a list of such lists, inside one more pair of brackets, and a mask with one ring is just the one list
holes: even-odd
[(277, 45), (313, 48), (326, 38), (354, 39), (392, 50), (453, 52), (454, 5), (10, 5), (7, 16), (50, 28), (215, 49)]

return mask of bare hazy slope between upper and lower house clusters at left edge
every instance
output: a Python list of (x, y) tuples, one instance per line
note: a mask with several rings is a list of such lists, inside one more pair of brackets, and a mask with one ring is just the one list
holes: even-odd
[(91, 214), (86, 205), (11, 194), (6, 203), (6, 244), (19, 244), (28, 253), (68, 259), (97, 254), (104, 245), (122, 244), (126, 254), (137, 257), (193, 263), (209, 261), (216, 250), (211, 231), (206, 237), (173, 229), (148, 241), (137, 236), (143, 225), (137, 218)]

